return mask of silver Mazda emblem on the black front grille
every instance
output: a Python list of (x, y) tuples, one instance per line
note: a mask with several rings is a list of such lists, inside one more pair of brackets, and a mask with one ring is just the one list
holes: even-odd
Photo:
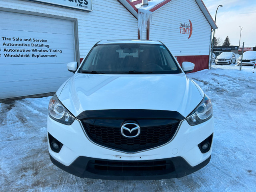
[(121, 134), (127, 138), (137, 137), (140, 134), (140, 126), (136, 123), (125, 123), (121, 127)]

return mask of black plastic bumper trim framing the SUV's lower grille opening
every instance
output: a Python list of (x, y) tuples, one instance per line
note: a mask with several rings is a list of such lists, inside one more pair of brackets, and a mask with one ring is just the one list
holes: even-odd
[[(78, 157), (70, 166), (65, 166), (55, 160), (50, 155), (50, 160), (54, 165), (61, 168), (62, 170), (71, 173), (75, 176), (81, 178), (93, 178), (93, 179), (106, 179), (106, 180), (158, 180), (158, 179), (169, 179), (169, 178), (181, 178), (188, 174), (191, 174), (204, 166), (206, 166), (210, 162), (211, 156), (206, 159), (204, 162), (198, 164), (197, 166), (190, 166), (186, 160), (182, 157), (173, 157), (167, 159), (159, 159), (159, 160), (146, 160), (146, 161), (118, 161), (118, 160), (104, 160), (104, 159), (96, 159), (80, 156)], [(170, 162), (172, 168), (168, 168), (162, 172), (162, 170), (157, 170), (153, 172), (148, 171), (140, 171), (140, 172), (129, 172), (129, 174), (124, 174), (124, 172), (120, 171), (110, 171), (108, 174), (108, 170), (92, 170), (90, 166), (90, 162), (95, 161), (107, 161), (110, 163), (143, 163), (150, 164), (151, 162), (160, 162), (166, 161)], [(103, 172), (104, 171), (104, 172)], [(104, 173), (104, 174), (102, 174)], [(155, 174), (156, 173), (156, 174)]]

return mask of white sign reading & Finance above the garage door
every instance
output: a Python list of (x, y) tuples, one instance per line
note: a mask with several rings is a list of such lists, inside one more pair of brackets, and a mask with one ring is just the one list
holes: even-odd
[(92, 11), (92, 0), (28, 0), (56, 6)]

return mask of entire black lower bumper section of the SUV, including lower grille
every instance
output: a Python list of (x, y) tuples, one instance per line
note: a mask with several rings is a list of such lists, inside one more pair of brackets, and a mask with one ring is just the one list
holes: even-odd
[(190, 166), (182, 157), (146, 161), (117, 161), (80, 156), (70, 166), (64, 166), (51, 155), (54, 165), (81, 178), (107, 180), (156, 180), (180, 178), (210, 162), (211, 156), (197, 166)]

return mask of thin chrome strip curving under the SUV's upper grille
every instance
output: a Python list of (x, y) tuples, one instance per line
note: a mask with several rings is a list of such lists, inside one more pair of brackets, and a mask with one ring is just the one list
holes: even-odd
[(99, 144), (97, 144), (97, 143), (94, 143), (94, 142), (93, 142), (93, 141), (88, 137), (88, 135), (86, 134), (86, 132), (85, 132), (85, 130), (84, 130), (84, 127), (83, 127), (82, 122), (81, 122), (79, 119), (77, 119), (77, 118), (76, 118), (76, 120), (78, 120), (78, 122), (80, 123), (80, 126), (81, 126), (81, 128), (82, 128), (82, 130), (83, 130), (83, 132), (84, 132), (84, 134), (85, 134), (85, 136), (86, 136), (86, 138), (87, 138), (90, 142), (92, 142), (93, 144), (95, 144), (95, 145), (97, 145), (97, 146), (100, 146), (100, 147), (103, 147), (103, 148), (105, 148), (105, 149), (112, 150), (112, 151), (118, 151), (118, 152), (126, 153), (126, 154), (136, 154), (136, 153), (145, 152), (145, 151), (149, 151), (149, 150), (152, 150), (152, 149), (160, 148), (160, 147), (165, 146), (165, 145), (169, 144), (170, 142), (172, 142), (172, 140), (174, 140), (175, 136), (177, 135), (178, 130), (180, 129), (180, 126), (181, 126), (182, 122), (183, 122), (183, 121), (185, 121), (186, 119), (184, 119), (184, 120), (181, 120), (181, 121), (180, 121), (180, 124), (178, 125), (178, 128), (177, 128), (177, 130), (176, 130), (176, 132), (175, 132), (174, 136), (173, 136), (173, 137), (172, 137), (172, 139), (171, 139), (170, 141), (168, 141), (167, 143), (162, 144), (162, 145), (157, 146), (157, 147), (154, 147), (154, 148), (145, 149), (145, 150), (142, 150), (142, 151), (136, 151), (136, 152), (125, 152), (125, 151), (120, 151), (120, 150), (116, 150), (116, 149), (108, 148), (108, 147), (105, 147), (105, 146), (99, 145)]

